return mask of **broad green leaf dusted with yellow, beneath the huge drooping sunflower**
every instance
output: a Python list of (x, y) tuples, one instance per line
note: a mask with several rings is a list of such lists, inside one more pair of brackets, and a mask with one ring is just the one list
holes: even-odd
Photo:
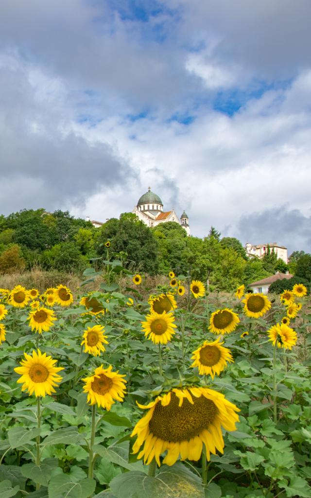
[(182, 464), (164, 465), (156, 477), (142, 472), (125, 472), (110, 482), (117, 498), (202, 498), (202, 481)]

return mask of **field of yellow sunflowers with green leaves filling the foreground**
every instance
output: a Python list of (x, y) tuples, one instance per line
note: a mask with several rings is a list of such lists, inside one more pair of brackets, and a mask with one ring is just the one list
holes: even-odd
[(215, 307), (104, 263), (0, 289), (0, 498), (311, 497), (304, 285)]

